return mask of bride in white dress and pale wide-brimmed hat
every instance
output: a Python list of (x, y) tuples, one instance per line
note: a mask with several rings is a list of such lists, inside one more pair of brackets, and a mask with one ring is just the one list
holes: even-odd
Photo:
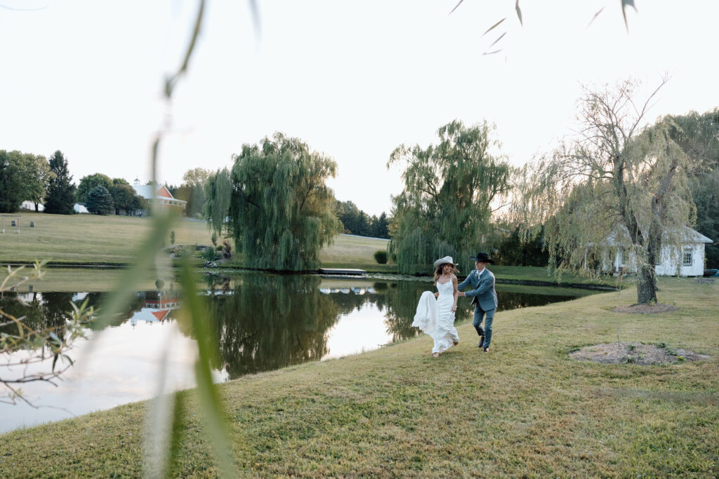
[[(412, 325), (434, 339), (432, 357), (459, 344), (459, 335), (454, 327), (454, 312), (457, 311), (457, 272), (452, 256), (434, 261), (434, 284), (437, 292), (422, 293), (417, 304), (417, 313)], [(436, 299), (435, 299), (436, 298)]]

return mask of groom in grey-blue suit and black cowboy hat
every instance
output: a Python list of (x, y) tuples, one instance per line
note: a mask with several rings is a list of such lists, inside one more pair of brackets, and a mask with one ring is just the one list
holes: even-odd
[[(463, 282), (457, 285), (457, 290), (459, 291), (459, 296), (474, 297), (472, 304), (475, 305), (475, 320), (472, 325), (475, 326), (477, 334), (480, 335), (479, 347), (482, 348), (483, 352), (489, 353), (490, 342), (492, 341), (492, 322), (497, 309), (497, 292), (494, 289), (494, 274), (487, 269), (487, 263), (494, 264), (494, 261), (489, 259), (486, 253), (477, 253), (477, 256), (470, 256), (470, 259), (475, 260), (477, 269), (473, 270)], [(472, 291), (462, 292), (462, 288), (467, 287), (470, 283), (472, 284)], [(485, 315), (487, 315), (485, 329), (482, 330), (480, 325)]]

